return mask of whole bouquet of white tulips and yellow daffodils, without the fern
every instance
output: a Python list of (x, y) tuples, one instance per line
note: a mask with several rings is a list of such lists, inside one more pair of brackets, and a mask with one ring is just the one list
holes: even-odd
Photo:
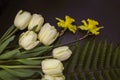
[[(68, 60), (74, 53), (67, 44), (76, 43), (89, 35), (99, 35), (99, 23), (92, 19), (82, 20), (83, 25), (75, 25), (75, 19), (65, 16), (65, 20), (56, 18), (57, 25), (63, 28), (58, 32), (55, 26), (45, 23), (40, 14), (31, 15), (28, 11), (20, 10), (12, 25), (0, 38), (0, 74), (3, 80), (66, 80), (62, 61)], [(56, 44), (58, 37), (66, 30), (73, 34), (85, 30), (82, 38), (65, 44)], [(18, 44), (9, 47), (15, 39), (15, 32), (24, 30), (19, 36)], [(26, 31), (25, 31), (26, 30)], [(52, 52), (51, 55), (47, 53)], [(81, 58), (82, 59), (82, 58)], [(0, 80), (1, 80), (0, 79)]]

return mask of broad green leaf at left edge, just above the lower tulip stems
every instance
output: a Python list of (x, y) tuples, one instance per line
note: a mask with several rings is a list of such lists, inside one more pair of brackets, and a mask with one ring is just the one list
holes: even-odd
[(18, 53), (20, 53), (19, 49), (15, 49), (12, 51), (8, 51), (6, 53), (3, 53), (0, 55), (0, 59), (11, 59), (13, 58), (15, 55), (17, 55)]

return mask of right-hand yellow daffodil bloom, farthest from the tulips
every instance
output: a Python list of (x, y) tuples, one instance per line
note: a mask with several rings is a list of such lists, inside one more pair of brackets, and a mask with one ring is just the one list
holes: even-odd
[(87, 21), (82, 20), (83, 25), (79, 26), (81, 30), (86, 30), (88, 33), (92, 33), (93, 35), (99, 35), (99, 30), (103, 27), (98, 27), (99, 23), (92, 19), (87, 19)]

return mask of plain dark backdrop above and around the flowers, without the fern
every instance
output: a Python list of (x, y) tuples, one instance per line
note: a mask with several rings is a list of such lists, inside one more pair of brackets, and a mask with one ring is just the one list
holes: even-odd
[[(55, 17), (69, 15), (80, 25), (82, 19), (92, 18), (104, 26), (99, 40), (120, 43), (120, 1), (119, 0), (0, 0), (0, 35), (13, 24), (16, 13), (20, 10), (42, 14), (46, 22), (56, 26)], [(74, 36), (66, 32), (63, 41), (70, 41), (83, 35)], [(66, 36), (68, 38), (66, 38)]]

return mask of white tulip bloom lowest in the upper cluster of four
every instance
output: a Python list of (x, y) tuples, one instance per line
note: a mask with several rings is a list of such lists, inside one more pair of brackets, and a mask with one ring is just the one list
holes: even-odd
[(26, 50), (30, 50), (38, 44), (39, 41), (37, 41), (37, 34), (33, 31), (22, 33), (19, 38), (19, 45)]

